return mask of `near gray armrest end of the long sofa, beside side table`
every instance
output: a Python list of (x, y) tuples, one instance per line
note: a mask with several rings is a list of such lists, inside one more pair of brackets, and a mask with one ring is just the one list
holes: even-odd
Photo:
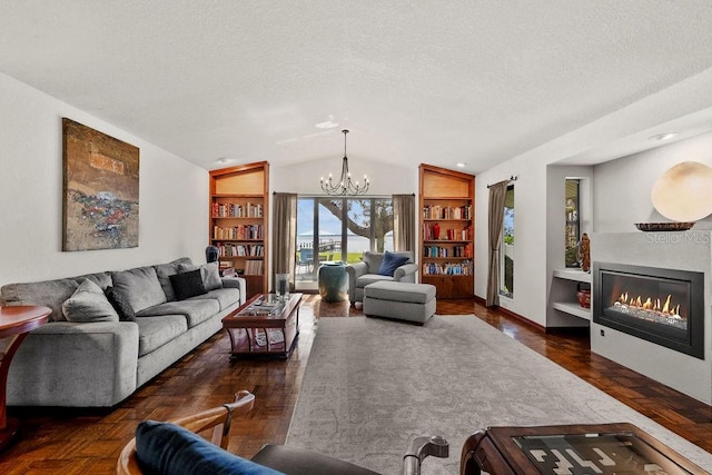
[(10, 365), (10, 406), (110, 407), (136, 390), (138, 325), (51, 321), (30, 331)]

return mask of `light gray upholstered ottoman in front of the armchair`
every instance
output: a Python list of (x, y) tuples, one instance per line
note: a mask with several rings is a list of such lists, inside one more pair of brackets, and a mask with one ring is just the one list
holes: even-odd
[(435, 286), (378, 281), (364, 287), (364, 314), (423, 325), (435, 314)]

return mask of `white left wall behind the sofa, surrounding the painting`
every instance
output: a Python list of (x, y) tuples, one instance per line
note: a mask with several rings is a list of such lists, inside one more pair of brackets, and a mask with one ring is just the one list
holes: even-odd
[[(63, 253), (62, 117), (140, 149), (139, 246)], [(0, 75), (0, 285), (205, 261), (208, 172), (127, 131)]]

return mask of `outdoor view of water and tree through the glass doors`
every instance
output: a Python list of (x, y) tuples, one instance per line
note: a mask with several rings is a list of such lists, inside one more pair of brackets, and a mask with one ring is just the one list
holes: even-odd
[(393, 250), (393, 202), (386, 198), (299, 198), (297, 280), (316, 280), (319, 263), (358, 263), (365, 250)]

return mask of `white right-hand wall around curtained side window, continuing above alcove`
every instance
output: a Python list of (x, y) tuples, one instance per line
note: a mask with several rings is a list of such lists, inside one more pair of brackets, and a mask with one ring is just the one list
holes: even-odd
[[(547, 192), (546, 167), (583, 156), (626, 137), (670, 131), (661, 125), (712, 107), (712, 69), (657, 91), (609, 116), (573, 130), (518, 157), (477, 174), (475, 181), (475, 295), (484, 298), (487, 288), (487, 184), (517, 175), (515, 182), (515, 264), (514, 298), (501, 299), (501, 306), (533, 323), (546, 325), (547, 273)], [(476, 157), (463, 157), (476, 164)], [(640, 164), (643, 168), (645, 165)], [(606, 189), (594, 172), (596, 186)], [(605, 180), (603, 180), (605, 181)], [(607, 189), (606, 191), (607, 192)], [(614, 208), (625, 212), (624, 204)], [(594, 206), (594, 216), (600, 212)], [(602, 219), (604, 219), (602, 217)], [(624, 218), (633, 222), (633, 217)], [(647, 219), (646, 219), (647, 220)], [(594, 231), (597, 231), (594, 222)]]

